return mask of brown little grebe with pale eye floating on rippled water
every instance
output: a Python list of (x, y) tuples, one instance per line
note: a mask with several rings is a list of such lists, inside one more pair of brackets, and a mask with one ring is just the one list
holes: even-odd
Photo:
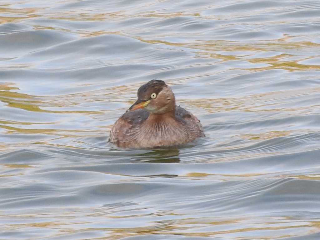
[(138, 90), (138, 100), (113, 125), (111, 143), (121, 148), (180, 145), (204, 137), (200, 121), (176, 106), (174, 94), (161, 80)]

